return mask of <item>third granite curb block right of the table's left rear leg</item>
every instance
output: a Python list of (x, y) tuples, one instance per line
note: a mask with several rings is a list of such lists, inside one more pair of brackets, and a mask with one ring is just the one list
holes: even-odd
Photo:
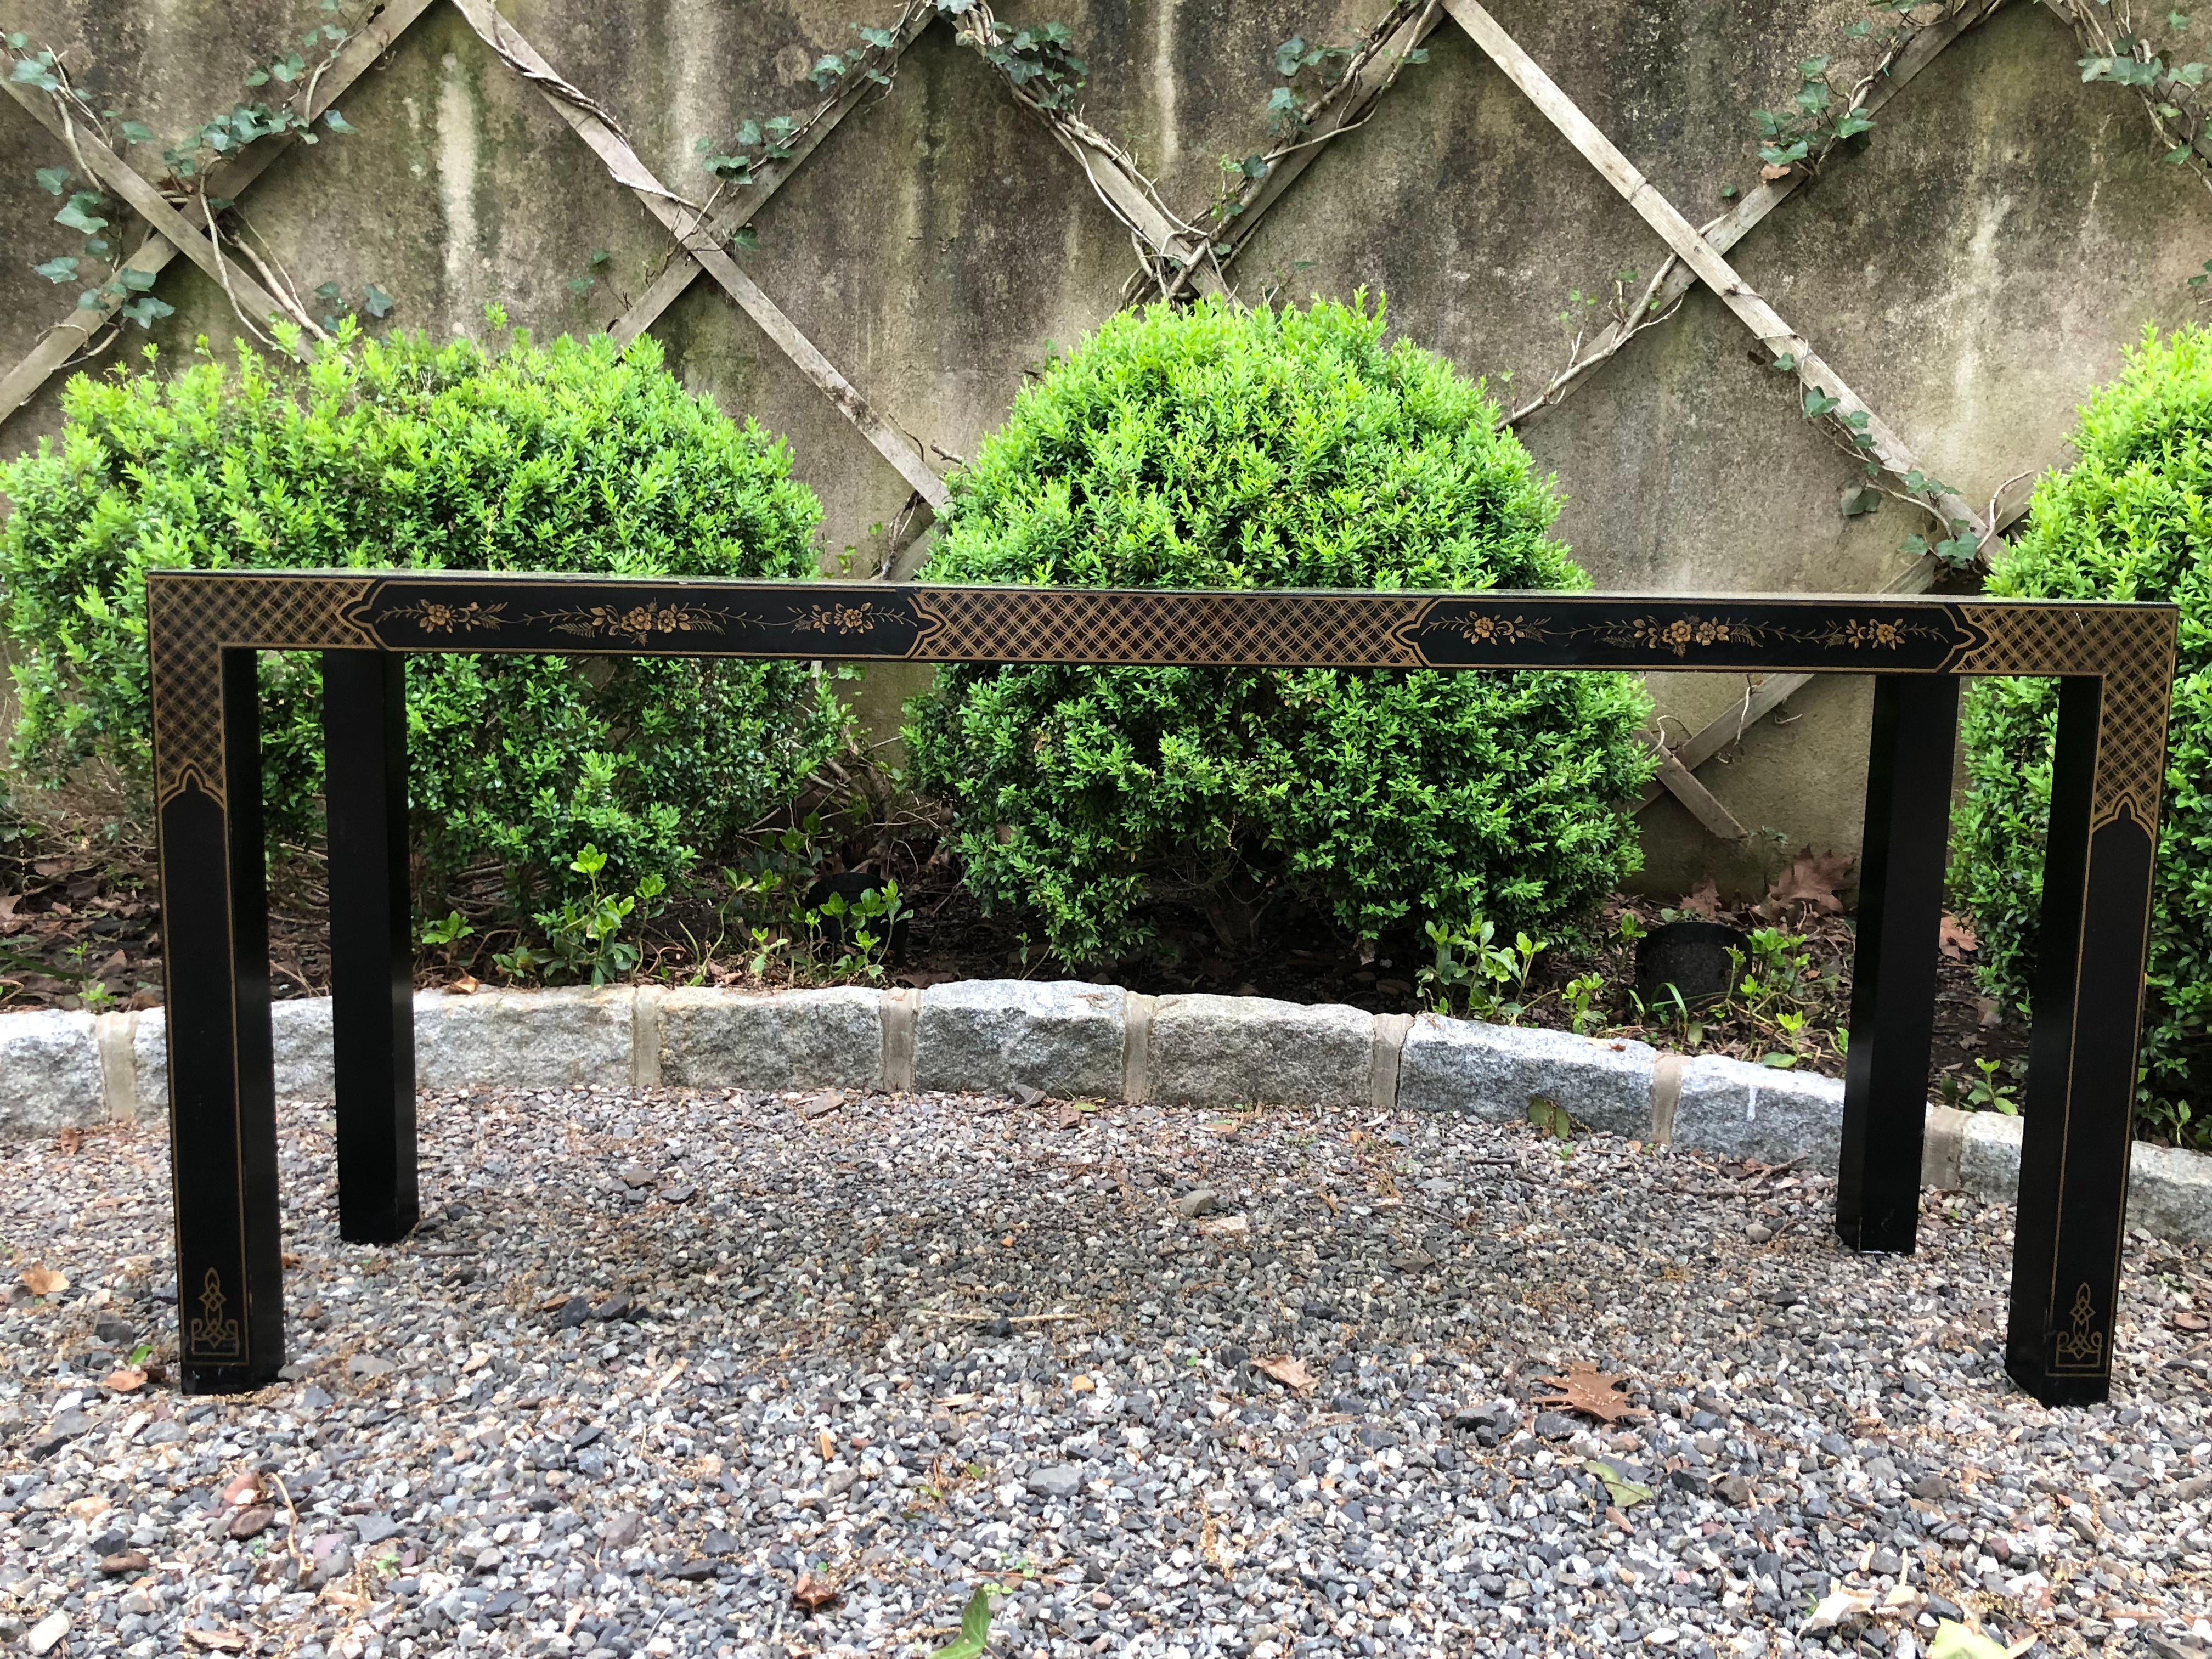
[(1060, 1097), (1121, 1093), (1121, 1000), (1110, 984), (956, 980), (922, 991), (914, 1086)]

